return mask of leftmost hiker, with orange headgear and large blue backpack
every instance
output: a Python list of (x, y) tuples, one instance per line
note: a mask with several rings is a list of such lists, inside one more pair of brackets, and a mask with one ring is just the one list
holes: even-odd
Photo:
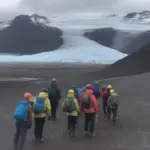
[(29, 100), (31, 93), (25, 93), (24, 99), (19, 102), (14, 112), (16, 133), (14, 138), (14, 150), (22, 150), (26, 140), (27, 131), (32, 125), (32, 106)]

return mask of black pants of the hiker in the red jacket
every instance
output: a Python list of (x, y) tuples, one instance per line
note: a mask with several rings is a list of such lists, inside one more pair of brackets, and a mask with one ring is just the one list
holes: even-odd
[(84, 130), (87, 132), (89, 131), (90, 128), (90, 132), (93, 133), (94, 125), (95, 125), (95, 113), (85, 113)]

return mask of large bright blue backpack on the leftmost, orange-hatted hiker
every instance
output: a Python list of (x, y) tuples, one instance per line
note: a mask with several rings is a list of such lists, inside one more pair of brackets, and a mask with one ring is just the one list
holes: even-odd
[(28, 117), (29, 101), (21, 100), (14, 112), (14, 119), (17, 122), (25, 121)]

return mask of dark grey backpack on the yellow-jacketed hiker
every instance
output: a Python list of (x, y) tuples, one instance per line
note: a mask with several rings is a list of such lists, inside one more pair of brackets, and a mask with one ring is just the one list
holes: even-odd
[(75, 110), (74, 100), (66, 99), (64, 103), (64, 112), (72, 113)]

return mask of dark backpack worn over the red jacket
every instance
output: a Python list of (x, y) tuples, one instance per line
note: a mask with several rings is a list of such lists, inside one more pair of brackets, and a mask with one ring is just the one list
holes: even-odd
[(81, 104), (83, 108), (89, 109), (91, 108), (91, 95), (84, 94), (81, 96)]

